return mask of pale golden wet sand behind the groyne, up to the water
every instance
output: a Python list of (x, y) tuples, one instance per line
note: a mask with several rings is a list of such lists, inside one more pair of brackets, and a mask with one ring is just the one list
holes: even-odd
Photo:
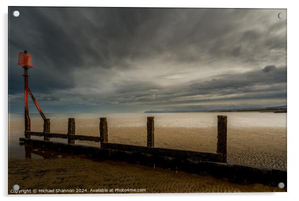
[[(76, 119), (76, 134), (99, 136), (98, 119)], [(10, 139), (22, 136), (24, 123), (10, 122)], [(52, 133), (67, 133), (68, 120), (51, 120)], [(31, 131), (42, 132), (41, 120), (31, 121)], [(109, 127), (109, 142), (143, 145), (147, 144), (147, 128)], [(32, 138), (40, 138), (32, 136)], [(51, 139), (66, 142), (65, 139)], [(99, 143), (76, 141), (99, 146)], [(155, 146), (192, 151), (216, 152), (217, 127), (164, 128), (155, 127)], [(287, 168), (287, 130), (281, 127), (227, 128), (227, 161), (230, 163)]]

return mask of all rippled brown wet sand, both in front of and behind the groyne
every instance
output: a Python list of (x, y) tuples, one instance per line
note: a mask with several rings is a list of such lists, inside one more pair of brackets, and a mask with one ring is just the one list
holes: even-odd
[[(76, 119), (76, 134), (99, 136), (98, 119)], [(67, 119), (51, 119), (52, 133), (67, 133)], [(23, 136), (24, 123), (10, 121), (10, 142)], [(31, 131), (42, 132), (42, 120), (31, 120)], [(109, 126), (109, 142), (146, 146), (146, 125)], [(281, 127), (228, 127), (227, 161), (245, 165), (287, 168), (287, 131)], [(32, 136), (32, 138), (41, 138)], [(66, 139), (51, 139), (67, 142)], [(76, 141), (93, 146), (96, 142)], [(155, 127), (155, 146), (216, 152), (217, 127)], [(22, 147), (23, 148), (23, 147)], [(81, 157), (24, 159), (10, 151), (9, 185), (28, 189), (146, 189), (146, 193), (179, 192), (279, 192), (261, 184), (235, 184), (210, 176), (151, 168), (117, 161), (94, 161)], [(37, 157), (38, 158), (38, 157)], [(41, 157), (39, 157), (41, 158)]]

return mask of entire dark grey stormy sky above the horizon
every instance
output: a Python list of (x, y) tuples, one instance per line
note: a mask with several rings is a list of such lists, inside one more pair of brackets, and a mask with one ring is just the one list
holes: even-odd
[(29, 87), (45, 113), (286, 105), (287, 21), (279, 12), (286, 16), (285, 9), (9, 7), (10, 113), (23, 112), (16, 63), (24, 50), (34, 64)]

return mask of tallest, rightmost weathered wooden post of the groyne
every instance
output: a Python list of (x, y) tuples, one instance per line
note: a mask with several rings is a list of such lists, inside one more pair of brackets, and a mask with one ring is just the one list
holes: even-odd
[(227, 116), (219, 115), (218, 117), (218, 134), (217, 134), (217, 153), (224, 156), (226, 163), (227, 152)]

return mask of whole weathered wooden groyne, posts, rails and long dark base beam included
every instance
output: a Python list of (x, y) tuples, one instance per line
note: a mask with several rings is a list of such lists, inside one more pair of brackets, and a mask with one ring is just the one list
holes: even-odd
[[(43, 136), (44, 140), (31, 139)], [(54, 142), (51, 138), (68, 139), (68, 143)], [(147, 166), (157, 166), (172, 170), (183, 170), (199, 175), (212, 175), (238, 183), (261, 183), (277, 186), (283, 182), (287, 187), (287, 170), (231, 164), (226, 161), (227, 117), (218, 116), (217, 152), (197, 152), (154, 147), (154, 117), (147, 119), (147, 144), (145, 146), (108, 142), (106, 118), (100, 118), (99, 136), (75, 134), (75, 119), (69, 118), (68, 133), (50, 133), (50, 120), (44, 120), (43, 132), (25, 131), (20, 141), (25, 143), (26, 157), (31, 157), (34, 149), (47, 148), (53, 151), (86, 155), (90, 158), (121, 160)], [(100, 146), (75, 144), (75, 140), (99, 142)]]

